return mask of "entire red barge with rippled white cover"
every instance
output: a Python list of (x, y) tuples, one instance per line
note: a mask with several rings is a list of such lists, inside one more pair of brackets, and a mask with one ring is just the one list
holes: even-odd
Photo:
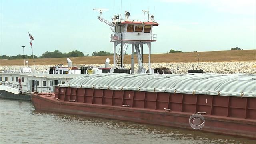
[(256, 80), (252, 74), (93, 74), (32, 94), (35, 110), (188, 128), (256, 138)]

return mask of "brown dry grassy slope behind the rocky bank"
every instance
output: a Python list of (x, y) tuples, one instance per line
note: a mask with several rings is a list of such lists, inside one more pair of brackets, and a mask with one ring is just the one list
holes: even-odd
[[(152, 54), (152, 63), (176, 63), (176, 62), (197, 62), (199, 53), (200, 62), (237, 62), (237, 61), (256, 61), (256, 50), (227, 50), (212, 52), (183, 52), (171, 54)], [(89, 57), (73, 57), (70, 58), (73, 64), (104, 64), (106, 58), (110, 58), (113, 63), (113, 56), (89, 56)], [(28, 59), (29, 64), (33, 64), (32, 59)], [(136, 55), (134, 62), (137, 63)], [(143, 55), (143, 62), (148, 62), (148, 54)], [(124, 63), (131, 63), (131, 55), (124, 56)], [(0, 65), (23, 65), (22, 59), (17, 60), (0, 60)], [(35, 59), (36, 65), (56, 65), (66, 64), (66, 58), (39, 58)]]

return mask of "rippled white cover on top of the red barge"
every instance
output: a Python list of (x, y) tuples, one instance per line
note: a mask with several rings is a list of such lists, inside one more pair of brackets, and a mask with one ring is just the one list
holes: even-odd
[(255, 74), (92, 74), (61, 87), (256, 97)]

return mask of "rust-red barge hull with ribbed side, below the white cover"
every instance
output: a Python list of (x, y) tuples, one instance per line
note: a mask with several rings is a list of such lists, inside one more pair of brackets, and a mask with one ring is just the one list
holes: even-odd
[(52, 96), (32, 94), (32, 103), (35, 110), (191, 130), (190, 116), (206, 112), (200, 130), (256, 138), (256, 98), (55, 87)]

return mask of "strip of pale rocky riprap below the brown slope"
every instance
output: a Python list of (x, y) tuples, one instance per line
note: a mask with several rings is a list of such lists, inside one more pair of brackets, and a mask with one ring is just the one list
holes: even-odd
[[(92, 66), (102, 66), (103, 64), (91, 64)], [(148, 69), (148, 63), (144, 63), (144, 68)], [(166, 67), (172, 70), (173, 73), (176, 74), (186, 74), (188, 70), (192, 68), (194, 65), (194, 69), (196, 69), (197, 62), (178, 62), (178, 63), (152, 63), (152, 68)], [(36, 70), (46, 70), (49, 66), (54, 65), (36, 65)], [(56, 66), (56, 65), (55, 65)], [(63, 65), (67, 66), (67, 65)], [(87, 66), (87, 65), (86, 65)], [(110, 67), (113, 64), (110, 64)], [(16, 70), (20, 69), (20, 67), (24, 66), (0, 66), (1, 70), (9, 70), (9, 68), (16, 68)], [(34, 68), (34, 66), (30, 66)], [(179, 70), (177, 70), (179, 67)], [(125, 68), (131, 68), (131, 64), (125, 64)], [(134, 64), (135, 72), (138, 70), (138, 64)], [(235, 73), (246, 73), (246, 74), (256, 74), (256, 62), (200, 62), (199, 68), (204, 70), (204, 73), (219, 73), (219, 74), (235, 74)]]

